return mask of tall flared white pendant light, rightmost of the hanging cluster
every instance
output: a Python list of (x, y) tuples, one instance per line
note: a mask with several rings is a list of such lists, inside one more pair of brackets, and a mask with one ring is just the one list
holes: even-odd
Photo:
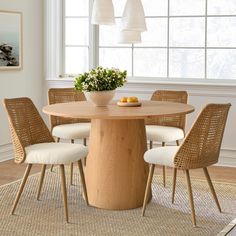
[(140, 32), (147, 30), (141, 0), (127, 0), (121, 19), (121, 29)]

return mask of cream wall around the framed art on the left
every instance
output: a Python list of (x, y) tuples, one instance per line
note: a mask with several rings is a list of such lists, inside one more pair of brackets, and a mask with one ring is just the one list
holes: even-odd
[[(0, 71), (0, 100), (27, 96), (42, 108), (43, 1), (0, 0), (0, 9), (23, 13), (23, 69)], [(5, 111), (0, 105), (0, 161), (12, 157)]]

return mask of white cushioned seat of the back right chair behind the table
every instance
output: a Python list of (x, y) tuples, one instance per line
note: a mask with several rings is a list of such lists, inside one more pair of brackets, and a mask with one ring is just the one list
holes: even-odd
[(147, 140), (158, 142), (172, 142), (184, 138), (184, 131), (180, 128), (160, 125), (146, 125)]

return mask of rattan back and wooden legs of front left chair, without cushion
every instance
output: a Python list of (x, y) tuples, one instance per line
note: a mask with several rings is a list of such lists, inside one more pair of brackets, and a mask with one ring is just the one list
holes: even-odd
[[(43, 119), (41, 118), (37, 108), (29, 98), (23, 97), (23, 98), (4, 99), (3, 105), (8, 114), (11, 138), (15, 152), (14, 155), (15, 162), (17, 164), (22, 164), (25, 162), (26, 159), (25, 147), (37, 143), (55, 142), (54, 138), (51, 135), (51, 132), (47, 128)], [(24, 190), (32, 166), (33, 164), (29, 163), (26, 167), (22, 182), (20, 184), (19, 190), (17, 192), (15, 201), (11, 209), (11, 214), (14, 214), (15, 212), (15, 209), (18, 205), (21, 194)], [(88, 196), (87, 196), (87, 190), (86, 190), (86, 184), (81, 160), (78, 161), (78, 168), (85, 196), (85, 201), (88, 205)], [(46, 165), (43, 164), (39, 180), (39, 187), (36, 196), (37, 200), (39, 200), (40, 193), (42, 190), (45, 171), (46, 171)], [(65, 212), (66, 222), (68, 222), (69, 217), (68, 217), (67, 191), (66, 191), (64, 165), (60, 165), (60, 173), (61, 173), (61, 191), (64, 200), (64, 212)]]

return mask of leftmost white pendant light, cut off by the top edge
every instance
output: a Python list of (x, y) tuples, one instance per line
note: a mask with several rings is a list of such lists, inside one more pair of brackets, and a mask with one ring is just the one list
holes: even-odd
[(112, 0), (94, 0), (91, 23), (97, 25), (115, 24)]

